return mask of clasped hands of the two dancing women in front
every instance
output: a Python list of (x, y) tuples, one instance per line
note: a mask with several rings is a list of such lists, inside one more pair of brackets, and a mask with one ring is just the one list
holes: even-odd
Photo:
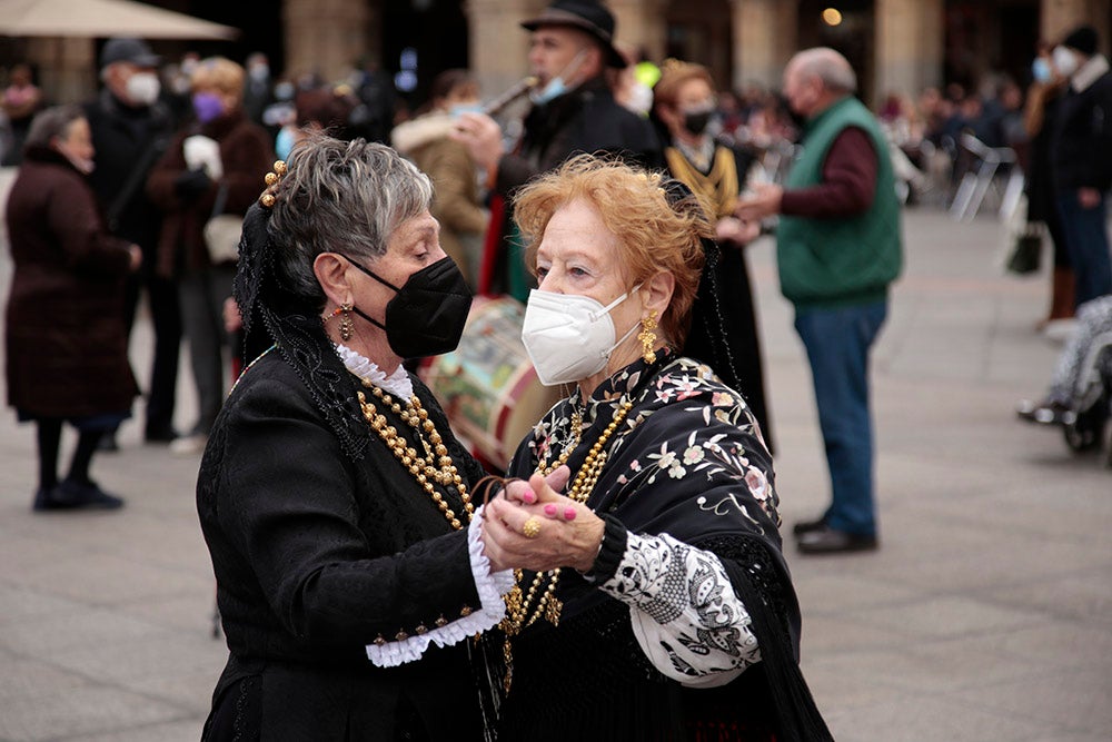
[(553, 488), (567, 482), (566, 472), (562, 466), (547, 481), (534, 474), (527, 483), (512, 482), (486, 504), (483, 543), (494, 570), (586, 572), (595, 563), (604, 524), (589, 507)]

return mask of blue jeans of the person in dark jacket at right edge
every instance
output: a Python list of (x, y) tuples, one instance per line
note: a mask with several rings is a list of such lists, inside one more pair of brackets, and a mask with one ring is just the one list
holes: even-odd
[(1058, 191), (1058, 212), (1070, 264), (1076, 281), (1074, 307), (1112, 294), (1112, 257), (1109, 254), (1108, 194), (1091, 209), (1078, 202), (1078, 189)]

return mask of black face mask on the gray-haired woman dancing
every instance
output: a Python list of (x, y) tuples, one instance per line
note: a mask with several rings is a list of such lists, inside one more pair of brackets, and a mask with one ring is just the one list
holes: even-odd
[(390, 348), (403, 358), (423, 358), (455, 350), (467, 324), (471, 290), (451, 258), (445, 257), (409, 276), (401, 288), (383, 280), (351, 258), (348, 261), (379, 284), (397, 291), (386, 305), (386, 325), (357, 307), (351, 310), (386, 330)]

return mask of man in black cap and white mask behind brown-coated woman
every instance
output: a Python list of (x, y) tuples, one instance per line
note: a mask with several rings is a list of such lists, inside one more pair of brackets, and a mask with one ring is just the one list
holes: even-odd
[[(166, 148), (176, 123), (159, 99), (160, 61), (140, 39), (109, 39), (100, 52), (100, 79), (105, 87), (97, 99), (85, 106), (97, 150), (97, 167), (89, 182), (112, 234), (139, 245), (143, 253), (142, 267), (129, 278), (126, 319), (130, 334), (139, 293), (146, 287), (155, 326), (155, 358), (143, 431), (149, 443), (166, 443), (175, 436), (175, 388), (181, 345), (177, 287), (155, 273), (162, 216), (143, 189), (147, 174)], [(105, 438), (106, 447), (116, 447), (115, 435)]]

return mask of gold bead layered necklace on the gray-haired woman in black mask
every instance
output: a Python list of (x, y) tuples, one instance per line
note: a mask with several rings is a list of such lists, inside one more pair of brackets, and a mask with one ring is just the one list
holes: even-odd
[[(398, 429), (389, 424), (385, 415), (378, 412), (375, 403), (369, 402), (363, 392), (358, 392), (359, 407), (363, 409), (364, 419), (370, 424), (370, 427), (378, 434), (378, 437), (386, 443), (394, 453), (395, 458), (409, 469), (409, 473), (433, 498), (433, 502), (436, 503), (436, 506), (444, 514), (444, 517), (448, 520), (453, 528), (459, 531), (464, 527), (464, 523), (448, 505), (444, 495), (437, 492), (436, 484), (445, 488), (449, 486), (456, 488), (456, 492), (459, 493), (459, 498), (464, 501), (466, 522), (470, 523), (475, 508), (471, 505), (471, 497), (467, 493), (467, 485), (464, 484), (464, 478), (459, 476), (455, 464), (451, 463), (451, 457), (448, 456), (448, 448), (444, 445), (444, 441), (440, 438), (440, 434), (437, 433), (433, 421), (428, 418), (428, 410), (421, 406), (420, 399), (414, 395), (403, 407), (390, 395), (374, 386), (370, 382), (364, 380), (363, 384), (371, 389), (371, 394), (386, 408), (398, 415), (404, 423), (417, 432), (417, 438), (421, 442), (421, 446), (425, 449), (424, 455), (419, 454), (403, 436), (398, 435)], [(426, 435), (428, 436), (427, 441)]]

